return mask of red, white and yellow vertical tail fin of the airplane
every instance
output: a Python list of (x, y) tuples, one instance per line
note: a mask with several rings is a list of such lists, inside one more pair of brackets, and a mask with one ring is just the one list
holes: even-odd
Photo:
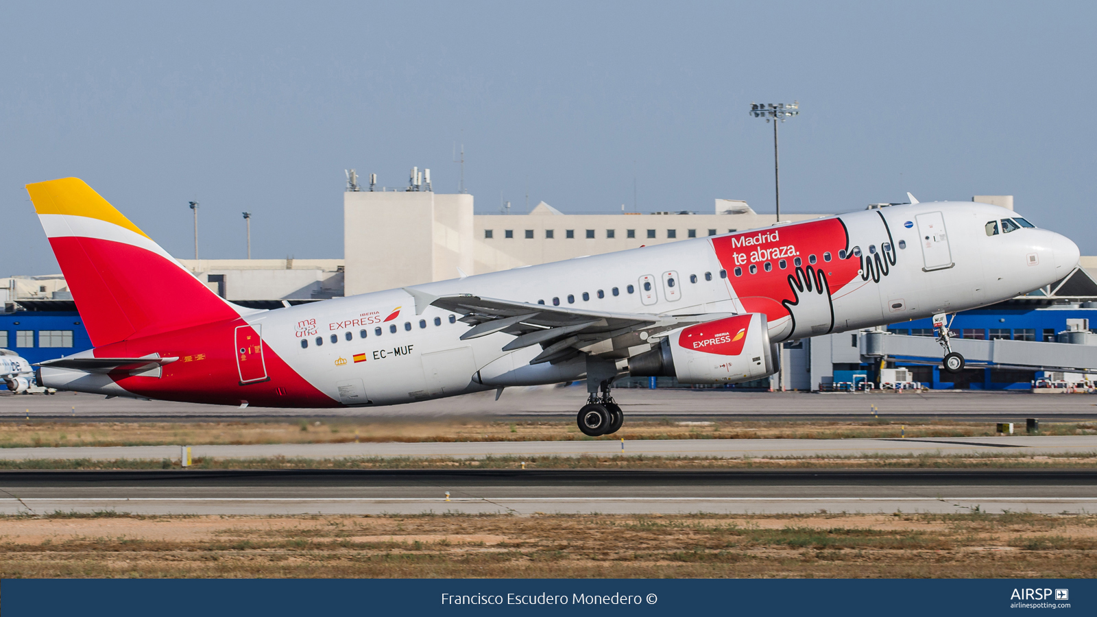
[(83, 180), (26, 190), (95, 347), (239, 316)]

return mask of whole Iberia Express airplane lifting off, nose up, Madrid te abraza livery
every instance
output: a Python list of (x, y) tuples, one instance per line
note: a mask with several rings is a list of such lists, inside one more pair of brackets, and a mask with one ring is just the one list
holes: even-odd
[(359, 407), (585, 380), (576, 423), (621, 428), (622, 375), (726, 384), (778, 344), (945, 316), (1050, 284), (1068, 238), (974, 202), (896, 204), (606, 255), (252, 310), (212, 292), (82, 180), (27, 184), (93, 349), (38, 383), (147, 400)]

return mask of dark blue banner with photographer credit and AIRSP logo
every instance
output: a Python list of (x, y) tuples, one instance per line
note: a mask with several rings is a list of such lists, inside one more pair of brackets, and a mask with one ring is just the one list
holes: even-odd
[(1097, 612), (1094, 580), (4, 580), (3, 617), (1024, 615)]

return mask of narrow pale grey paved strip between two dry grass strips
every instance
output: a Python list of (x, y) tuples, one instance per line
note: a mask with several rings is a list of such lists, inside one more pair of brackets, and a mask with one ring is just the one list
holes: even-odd
[[(192, 446), (192, 457), (247, 458), (486, 458), (486, 457), (858, 457), (917, 455), (1062, 455), (1094, 452), (1097, 435), (1000, 436), (934, 439), (607, 439), (579, 441), (426, 441)], [(178, 459), (179, 446), (0, 448), (0, 460)]]

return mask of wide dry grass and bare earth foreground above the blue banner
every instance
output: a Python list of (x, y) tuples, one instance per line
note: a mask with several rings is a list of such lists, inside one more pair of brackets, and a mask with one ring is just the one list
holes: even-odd
[(1097, 516), (8, 517), (0, 577), (1094, 577)]

